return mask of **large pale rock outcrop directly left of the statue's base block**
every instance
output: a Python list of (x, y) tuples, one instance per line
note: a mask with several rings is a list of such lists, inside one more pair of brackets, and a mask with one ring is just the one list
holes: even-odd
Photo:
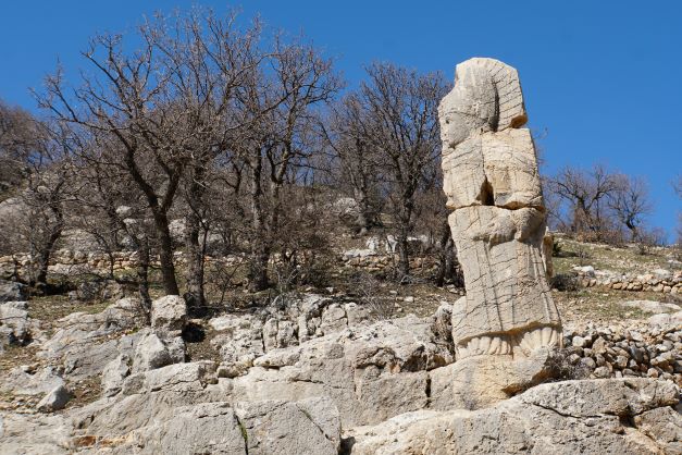
[(345, 426), (377, 422), (429, 402), (427, 370), (451, 362), (429, 319), (409, 316), (274, 349), (234, 380), (238, 401), (328, 396)]

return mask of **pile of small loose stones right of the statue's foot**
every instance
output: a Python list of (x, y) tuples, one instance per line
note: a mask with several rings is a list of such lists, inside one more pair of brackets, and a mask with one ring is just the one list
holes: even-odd
[[(682, 328), (595, 328), (565, 332), (568, 360), (591, 378), (648, 377), (682, 386)], [(580, 374), (579, 373), (579, 374)]]

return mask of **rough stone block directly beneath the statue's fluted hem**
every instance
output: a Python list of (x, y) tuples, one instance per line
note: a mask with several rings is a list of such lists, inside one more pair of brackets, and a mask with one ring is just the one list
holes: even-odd
[(481, 409), (551, 379), (553, 349), (528, 357), (473, 356), (431, 371), (433, 409)]

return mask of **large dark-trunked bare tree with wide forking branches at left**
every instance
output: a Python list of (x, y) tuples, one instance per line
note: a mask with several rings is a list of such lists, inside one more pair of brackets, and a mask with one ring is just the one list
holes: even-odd
[(169, 211), (197, 130), (194, 112), (177, 103), (182, 81), (172, 71), (176, 62), (159, 50), (162, 33), (159, 24), (142, 25), (141, 49), (127, 53), (121, 35), (95, 37), (83, 52), (94, 75), (82, 72), (80, 86), (69, 90), (58, 71), (47, 78), (40, 102), (74, 132), (98, 144), (116, 144), (121, 152), (116, 165), (145, 195), (153, 219), (165, 293), (177, 295)]

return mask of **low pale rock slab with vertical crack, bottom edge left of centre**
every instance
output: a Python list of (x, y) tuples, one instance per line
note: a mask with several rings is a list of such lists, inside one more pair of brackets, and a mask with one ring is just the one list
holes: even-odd
[(85, 452), (114, 454), (337, 454), (340, 443), (338, 411), (324, 398), (197, 403), (106, 436), (88, 430), (71, 445), (91, 441)]

